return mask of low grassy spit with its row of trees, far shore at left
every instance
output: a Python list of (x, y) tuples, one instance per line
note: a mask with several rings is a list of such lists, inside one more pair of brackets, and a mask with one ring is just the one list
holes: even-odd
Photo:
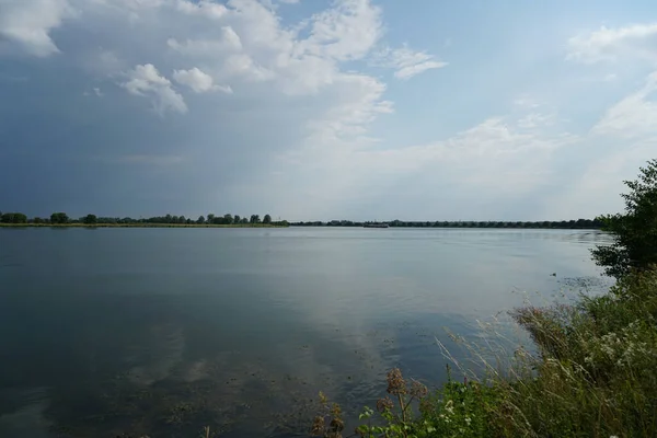
[(198, 219), (185, 216), (155, 216), (151, 218), (134, 219), (130, 217), (113, 218), (87, 215), (79, 219), (70, 218), (66, 212), (54, 212), (49, 218), (27, 218), (21, 212), (0, 212), (0, 227), (288, 227), (287, 220), (273, 220), (270, 215), (262, 219), (260, 215), (251, 217), (232, 216), (230, 214), (216, 216), (209, 214), (207, 217), (199, 216)]

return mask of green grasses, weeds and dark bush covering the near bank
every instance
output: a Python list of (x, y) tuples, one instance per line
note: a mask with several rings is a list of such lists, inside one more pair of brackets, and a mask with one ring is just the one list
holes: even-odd
[[(473, 376), (454, 360), (460, 376), (470, 379), (450, 377), (434, 393), (391, 370), (388, 395), (376, 410), (364, 408), (356, 435), (656, 437), (657, 160), (625, 184), (625, 211), (598, 219), (614, 241), (592, 251), (596, 263), (616, 278), (607, 293), (568, 306), (515, 309), (511, 318), (535, 349), (519, 347), (507, 357), (474, 348), (484, 371)], [(489, 353), (498, 360), (483, 359)], [(312, 434), (351, 436), (339, 406), (323, 394), (321, 404)]]

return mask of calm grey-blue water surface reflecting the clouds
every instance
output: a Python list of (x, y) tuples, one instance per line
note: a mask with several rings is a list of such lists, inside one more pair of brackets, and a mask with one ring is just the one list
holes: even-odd
[(603, 239), (0, 229), (0, 436), (293, 436), (320, 390), (353, 413), (391, 367), (440, 383), (445, 327), (475, 337), (521, 291), (604, 287), (588, 255)]

